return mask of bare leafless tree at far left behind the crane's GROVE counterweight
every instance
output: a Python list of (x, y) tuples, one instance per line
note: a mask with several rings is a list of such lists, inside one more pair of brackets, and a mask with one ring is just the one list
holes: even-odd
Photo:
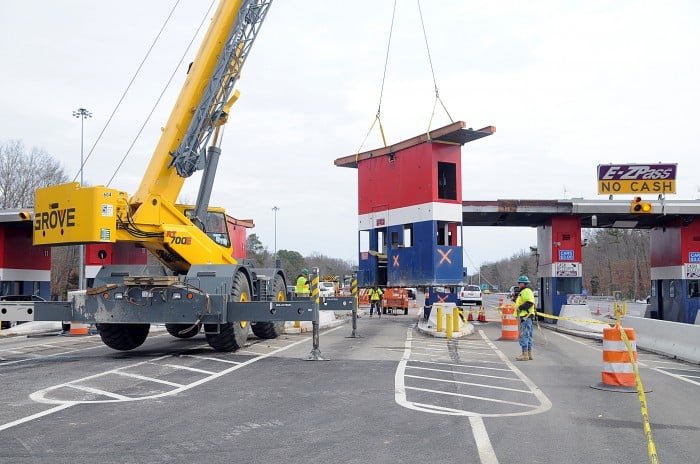
[(60, 163), (39, 148), (27, 152), (19, 140), (0, 145), (0, 208), (34, 206), (34, 191), (66, 182)]

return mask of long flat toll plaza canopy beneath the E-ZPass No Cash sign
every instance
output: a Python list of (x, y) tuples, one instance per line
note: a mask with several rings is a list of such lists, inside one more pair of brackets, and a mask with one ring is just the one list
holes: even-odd
[(651, 204), (650, 212), (632, 212), (631, 199), (462, 201), (462, 225), (537, 227), (552, 216), (570, 216), (584, 228), (652, 229), (700, 216), (700, 200), (643, 201)]

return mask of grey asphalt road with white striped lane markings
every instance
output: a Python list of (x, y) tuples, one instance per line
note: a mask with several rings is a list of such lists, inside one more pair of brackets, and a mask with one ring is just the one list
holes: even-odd
[[(416, 314), (250, 339), (154, 332), (133, 352), (99, 336), (0, 340), (0, 462), (649, 462), (635, 392), (599, 386), (601, 343), (536, 330), (533, 361), (500, 321), (459, 340)], [(660, 462), (697, 462), (700, 366), (639, 353)]]

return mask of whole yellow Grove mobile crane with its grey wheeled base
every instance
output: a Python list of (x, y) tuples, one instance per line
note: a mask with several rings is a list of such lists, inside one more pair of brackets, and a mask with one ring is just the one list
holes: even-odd
[[(96, 323), (103, 342), (117, 350), (140, 346), (151, 323), (165, 323), (181, 338), (203, 325), (215, 350), (235, 351), (250, 328), (258, 337), (275, 338), (285, 319), (299, 319), (284, 314), (292, 310), (281, 303), (284, 272), (232, 258), (225, 212), (209, 207), (219, 130), (238, 98), (234, 85), (271, 3), (220, 2), (133, 196), (75, 182), (37, 190), (34, 244), (137, 242), (162, 265), (105, 266), (84, 304), (37, 308), (42, 314), (34, 320)], [(185, 179), (199, 169), (196, 204), (176, 204)], [(302, 311), (309, 308), (295, 306), (294, 312)]]

